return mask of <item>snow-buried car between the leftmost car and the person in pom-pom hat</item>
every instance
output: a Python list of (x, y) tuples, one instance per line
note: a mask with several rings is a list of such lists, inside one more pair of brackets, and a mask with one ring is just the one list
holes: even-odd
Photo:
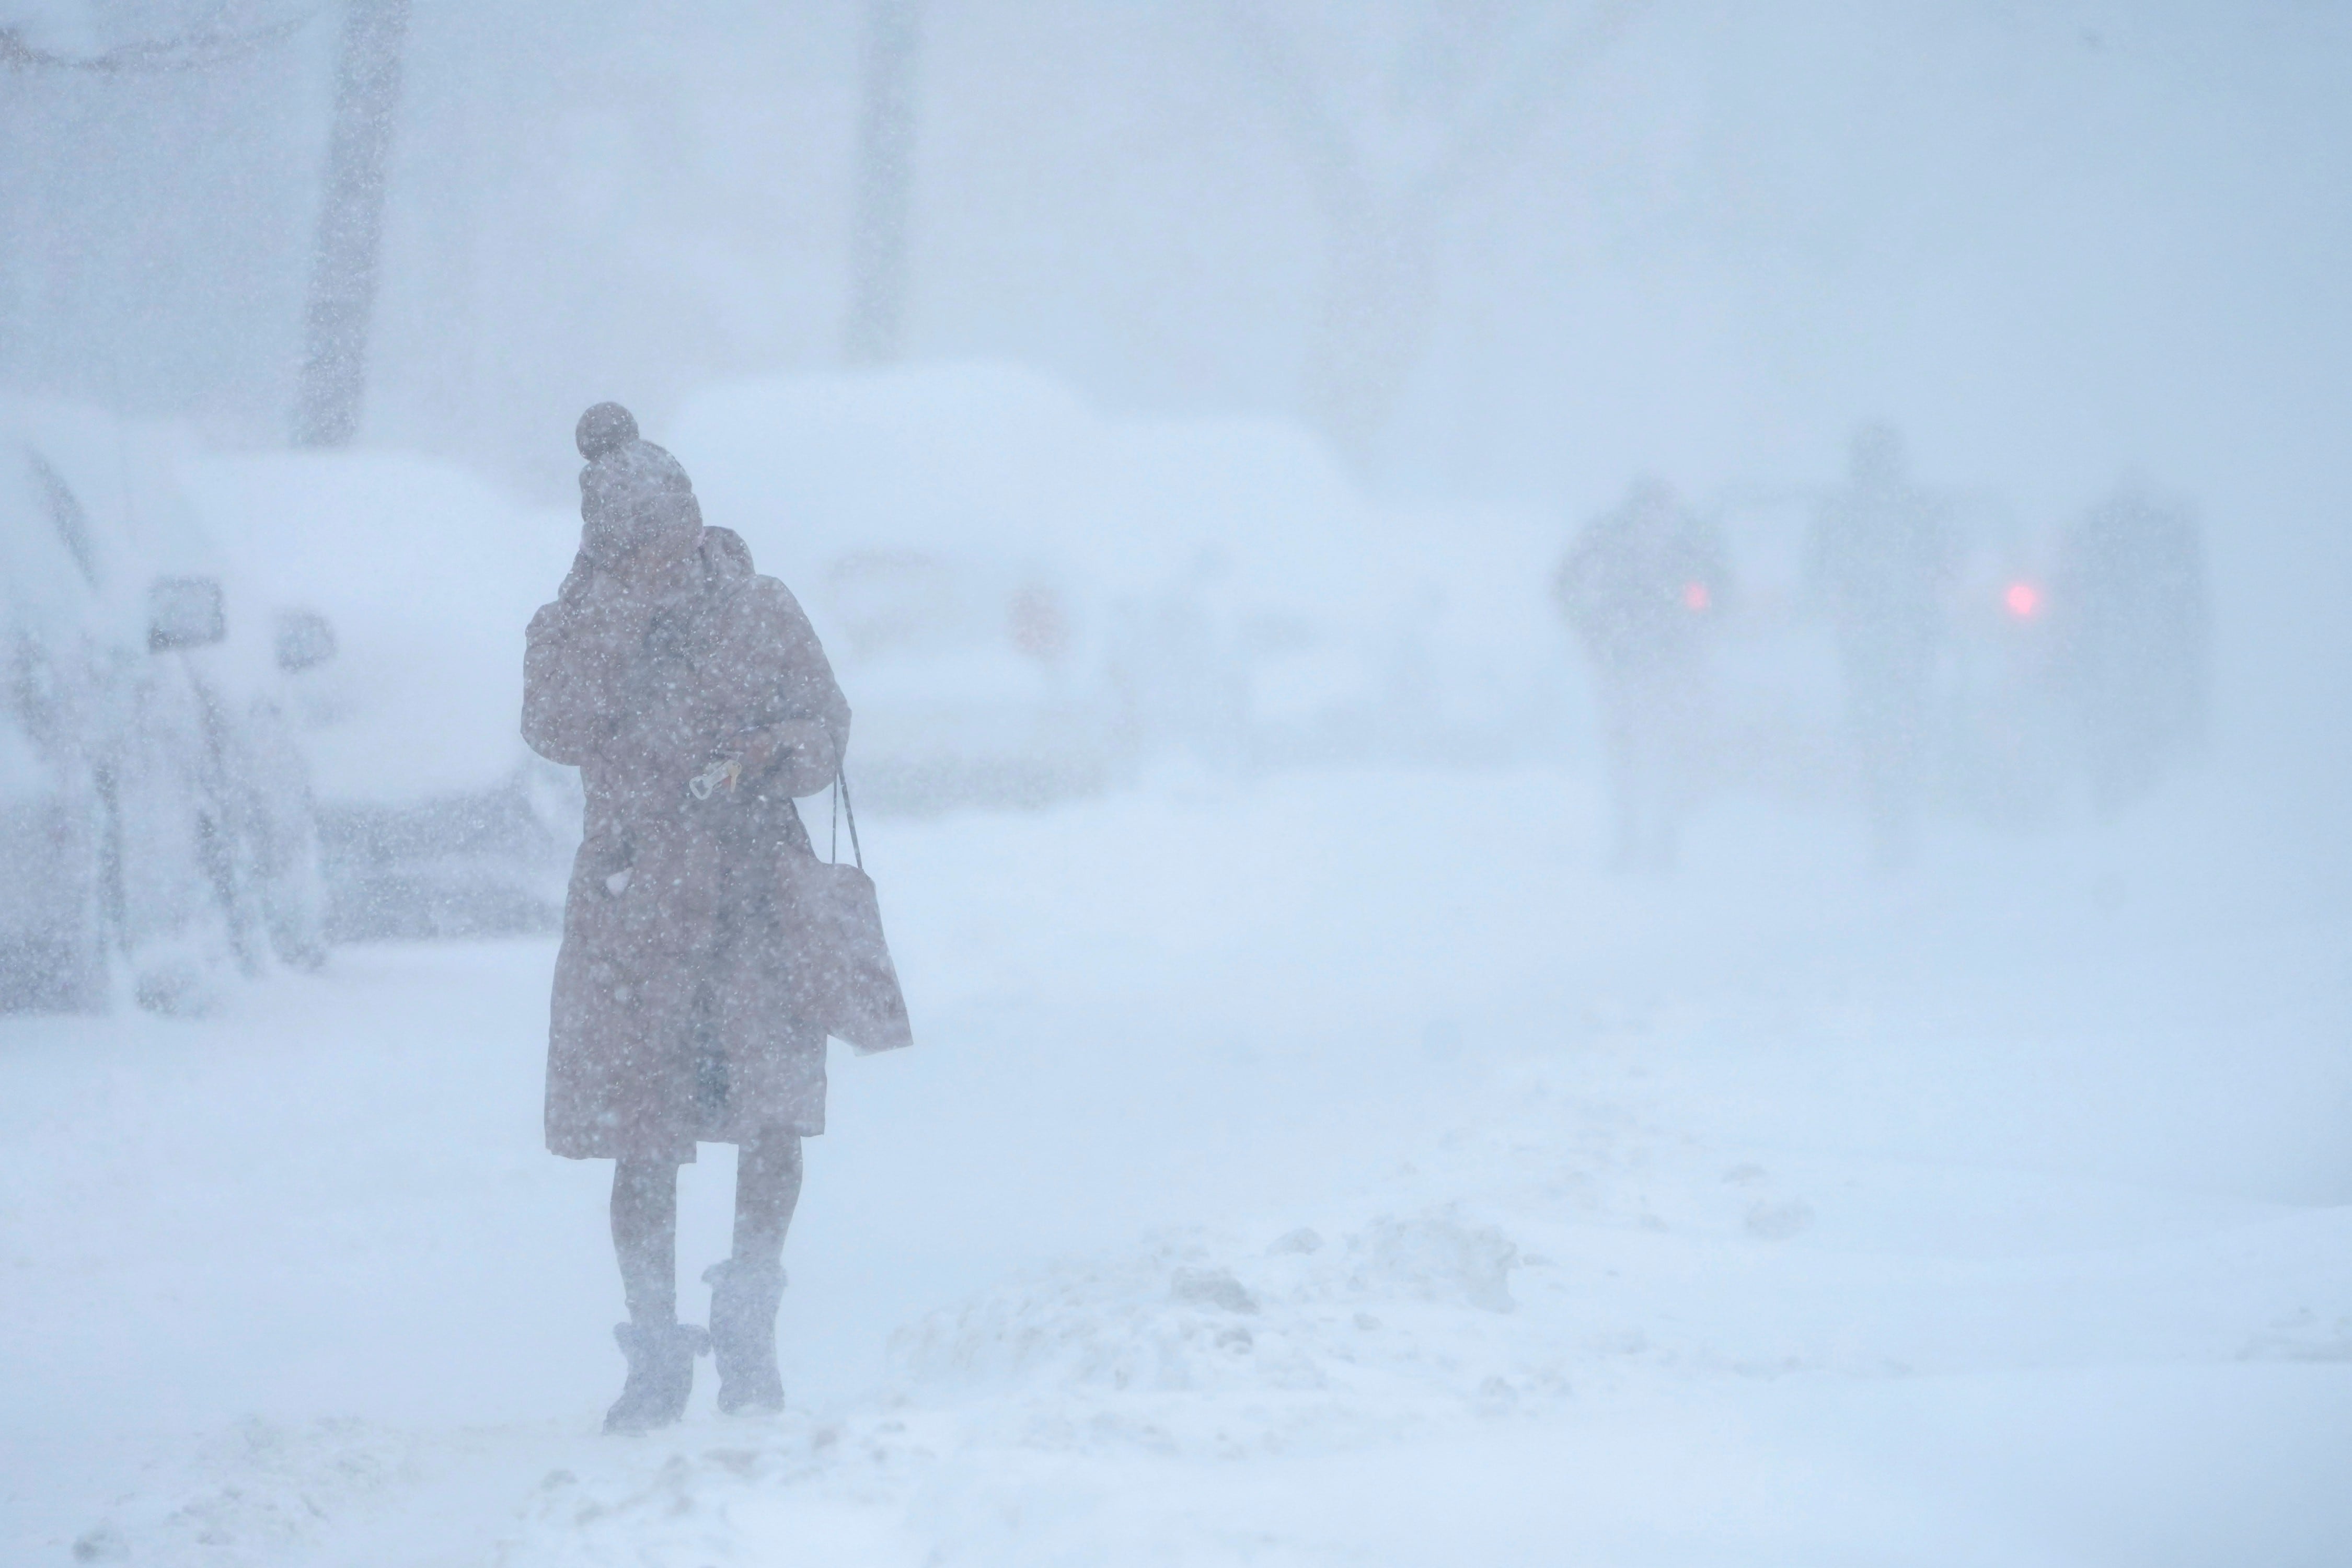
[[(188, 494), (282, 614), (334, 940), (548, 931), (579, 780), (522, 745), (522, 630), (579, 520), (400, 451), (205, 456)], [(303, 663), (301, 649), (334, 646)]]

